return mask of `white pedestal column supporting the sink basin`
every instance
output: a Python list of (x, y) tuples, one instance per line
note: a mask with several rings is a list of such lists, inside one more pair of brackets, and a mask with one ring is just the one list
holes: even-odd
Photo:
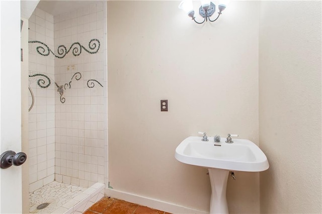
[(208, 172), (211, 184), (210, 214), (228, 214), (226, 187), (229, 171), (225, 169), (208, 168)]

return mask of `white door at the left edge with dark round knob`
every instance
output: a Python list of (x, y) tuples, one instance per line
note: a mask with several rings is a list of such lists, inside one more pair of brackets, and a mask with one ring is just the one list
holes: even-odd
[[(0, 154), (21, 151), (20, 1), (0, 0)], [(0, 213), (22, 213), (22, 166), (0, 168)]]

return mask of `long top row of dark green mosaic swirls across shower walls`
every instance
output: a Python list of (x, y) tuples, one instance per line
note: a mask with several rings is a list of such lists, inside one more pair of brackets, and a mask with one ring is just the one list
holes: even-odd
[[(50, 48), (48, 47), (48, 45), (46, 45), (43, 42), (40, 42), (40, 41), (29, 41), (29, 43), (39, 43), (39, 44), (42, 45), (42, 46), (37, 46), (36, 47), (36, 51), (38, 52), (38, 54), (40, 54), (42, 56), (49, 56), (49, 54), (52, 53), (56, 58), (59, 58), (59, 59), (64, 58), (66, 56), (66, 54), (69, 53), (69, 51), (71, 50), (71, 48), (73, 46), (75, 46), (75, 47), (72, 48), (72, 55), (74, 55), (75, 57), (81, 55), (83, 49), (87, 53), (89, 53), (89, 54), (96, 54), (100, 50), (100, 46), (101, 46), (101, 43), (100, 43), (100, 41), (98, 39), (92, 39), (89, 42), (89, 49), (90, 50), (86, 49), (83, 45), (81, 45), (81, 43), (74, 42), (69, 47), (68, 51), (67, 51), (66, 46), (64, 46), (64, 45), (58, 46), (58, 48), (57, 48), (58, 55), (55, 55), (54, 52), (52, 52), (52, 50), (50, 50)], [(97, 48), (97, 50), (94, 51), (96, 48)]]

